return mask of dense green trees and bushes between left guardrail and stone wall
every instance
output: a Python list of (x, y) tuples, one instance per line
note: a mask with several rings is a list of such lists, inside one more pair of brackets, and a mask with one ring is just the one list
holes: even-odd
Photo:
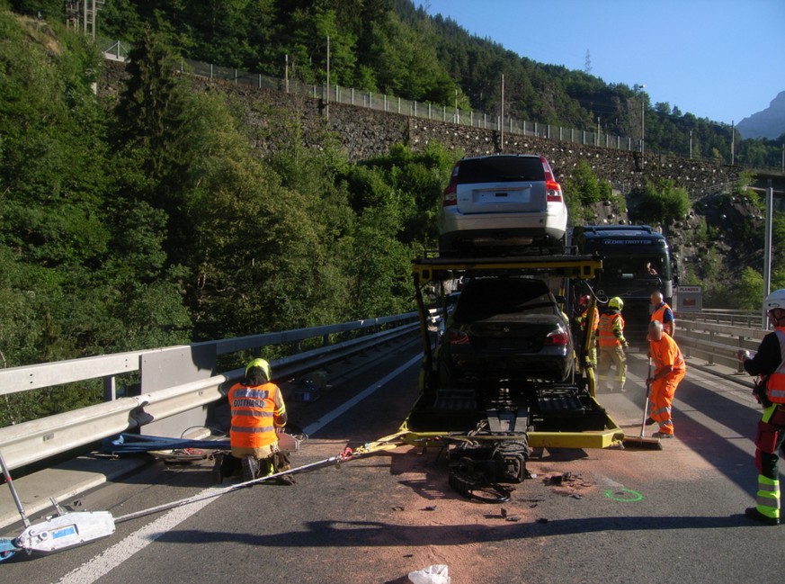
[[(412, 309), (454, 154), (350, 165), (270, 112), (292, 138), (263, 160), (225, 95), (175, 76), (165, 38), (136, 47), (103, 102), (84, 36), (0, 9), (0, 366)], [(0, 426), (58, 408), (37, 393), (6, 399)]]

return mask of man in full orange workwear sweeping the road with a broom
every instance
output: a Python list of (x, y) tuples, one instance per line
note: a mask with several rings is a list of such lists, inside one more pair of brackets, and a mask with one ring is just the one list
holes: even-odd
[(660, 426), (652, 436), (673, 438), (673, 395), (687, 373), (687, 364), (676, 341), (665, 334), (659, 320), (649, 323), (648, 338), (648, 355), (654, 364), (646, 380), (651, 388), (650, 419)]

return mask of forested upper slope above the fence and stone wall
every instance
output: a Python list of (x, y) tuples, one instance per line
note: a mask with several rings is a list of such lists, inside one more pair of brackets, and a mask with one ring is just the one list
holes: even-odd
[[(185, 57), (225, 67), (326, 82), (327, 38), (333, 84), (418, 102), (459, 105), (516, 119), (641, 136), (651, 152), (731, 160), (731, 128), (651, 103), (645, 91), (607, 84), (583, 71), (544, 65), (456, 22), (426, 13), (419, 0), (107, 0), (98, 32), (135, 42), (146, 26)], [(60, 0), (13, 0), (30, 14), (62, 19)], [(782, 137), (745, 139), (736, 162), (780, 167)]]

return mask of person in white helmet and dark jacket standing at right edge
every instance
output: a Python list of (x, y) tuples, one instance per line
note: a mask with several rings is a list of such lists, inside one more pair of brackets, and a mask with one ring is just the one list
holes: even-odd
[(780, 524), (780, 481), (777, 452), (785, 440), (785, 290), (772, 292), (763, 301), (774, 331), (763, 337), (754, 356), (744, 349), (738, 358), (745, 370), (758, 375), (754, 394), (763, 406), (763, 418), (755, 436), (755, 466), (758, 469), (757, 505), (745, 514), (756, 521)]

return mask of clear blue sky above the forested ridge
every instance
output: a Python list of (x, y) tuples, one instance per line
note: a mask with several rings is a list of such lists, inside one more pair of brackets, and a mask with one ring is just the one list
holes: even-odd
[(480, 38), (652, 103), (741, 121), (785, 91), (785, 0), (414, 0)]

